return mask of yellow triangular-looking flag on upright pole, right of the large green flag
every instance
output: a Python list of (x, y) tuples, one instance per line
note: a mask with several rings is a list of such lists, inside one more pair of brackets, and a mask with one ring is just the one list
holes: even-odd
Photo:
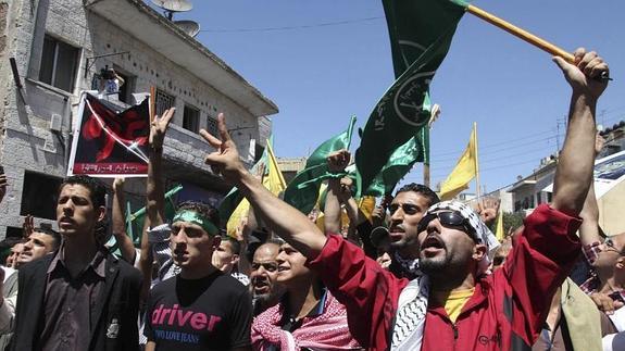
[(466, 150), (440, 187), (440, 199), (451, 200), (462, 190), (467, 189), (468, 183), (477, 175), (477, 126), (474, 123)]

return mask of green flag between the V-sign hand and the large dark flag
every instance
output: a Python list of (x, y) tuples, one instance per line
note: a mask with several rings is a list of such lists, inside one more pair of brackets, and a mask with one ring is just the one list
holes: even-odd
[(350, 118), (343, 133), (326, 140), (308, 158), (303, 171), (299, 172), (285, 190), (285, 201), (303, 214), (309, 214), (315, 205), (321, 184), (333, 177), (327, 170), (327, 156), (338, 150), (349, 149), (355, 117)]

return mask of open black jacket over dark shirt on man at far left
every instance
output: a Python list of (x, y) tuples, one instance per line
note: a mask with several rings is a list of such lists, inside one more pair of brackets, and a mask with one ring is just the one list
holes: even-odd
[[(15, 329), (11, 350), (35, 350), (43, 331), (47, 272), (53, 254), (20, 268)], [(104, 288), (92, 315), (89, 350), (139, 350), (138, 311), (141, 274), (107, 254)]]

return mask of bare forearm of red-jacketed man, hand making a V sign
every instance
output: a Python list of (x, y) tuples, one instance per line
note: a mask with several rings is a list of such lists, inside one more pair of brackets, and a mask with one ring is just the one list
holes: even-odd
[(316, 258), (326, 242), (325, 235), (304, 214), (276, 198), (246, 170), (226, 129), (223, 114), (217, 117), (217, 127), (218, 139), (204, 129), (200, 130), (202, 137), (216, 149), (207, 155), (207, 164), (236, 184), (257, 211), (257, 215), (278, 236), (307, 258)]

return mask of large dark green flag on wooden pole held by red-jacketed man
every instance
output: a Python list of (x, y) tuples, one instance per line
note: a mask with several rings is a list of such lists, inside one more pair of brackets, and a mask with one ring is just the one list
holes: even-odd
[(421, 138), (415, 145), (425, 147), (415, 162), (426, 161), (428, 135), (421, 130), (429, 121), (429, 110), (424, 101), (467, 5), (462, 0), (383, 0), (383, 4), (397, 80), (374, 108), (355, 152), (362, 191), (377, 177), (384, 178), (380, 173), (389, 160), (409, 156), (393, 153), (412, 138)]

